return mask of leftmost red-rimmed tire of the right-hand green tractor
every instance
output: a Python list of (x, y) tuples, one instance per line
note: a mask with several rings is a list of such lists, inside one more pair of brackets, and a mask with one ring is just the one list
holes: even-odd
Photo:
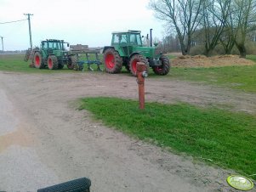
[(120, 73), (122, 70), (122, 58), (114, 48), (107, 48), (104, 52), (105, 71), (108, 73)]

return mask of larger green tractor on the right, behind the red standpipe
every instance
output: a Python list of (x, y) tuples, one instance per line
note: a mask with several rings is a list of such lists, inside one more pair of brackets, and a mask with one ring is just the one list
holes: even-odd
[(137, 62), (144, 62), (157, 75), (167, 75), (170, 62), (163, 53), (157, 53), (156, 47), (143, 47), (140, 31), (113, 32), (111, 46), (103, 50), (105, 71), (119, 73), (122, 66), (136, 75)]

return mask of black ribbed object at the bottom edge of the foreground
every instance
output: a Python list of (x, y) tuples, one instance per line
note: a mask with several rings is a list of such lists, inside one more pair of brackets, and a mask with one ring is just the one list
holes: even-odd
[(62, 184), (56, 184), (44, 189), (38, 189), (37, 192), (89, 192), (91, 180), (88, 178), (77, 178)]

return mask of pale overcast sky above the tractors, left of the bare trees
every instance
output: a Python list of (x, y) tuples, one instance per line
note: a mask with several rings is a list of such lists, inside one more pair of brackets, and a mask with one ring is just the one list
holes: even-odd
[[(110, 45), (112, 31), (153, 29), (162, 39), (164, 23), (148, 8), (149, 0), (0, 0), (0, 23), (31, 16), (33, 46), (47, 38), (89, 47)], [(30, 47), (27, 20), (0, 24), (4, 50)], [(2, 49), (2, 43), (0, 42)]]

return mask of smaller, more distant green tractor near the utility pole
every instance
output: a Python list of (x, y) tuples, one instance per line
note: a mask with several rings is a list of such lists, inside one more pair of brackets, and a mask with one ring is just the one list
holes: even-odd
[(57, 70), (64, 65), (73, 69), (77, 64), (77, 56), (66, 51), (65, 44), (69, 47), (69, 43), (63, 40), (47, 39), (41, 42), (40, 48), (28, 49), (24, 60), (31, 59), (31, 66), (38, 69), (48, 66), (49, 70)]

